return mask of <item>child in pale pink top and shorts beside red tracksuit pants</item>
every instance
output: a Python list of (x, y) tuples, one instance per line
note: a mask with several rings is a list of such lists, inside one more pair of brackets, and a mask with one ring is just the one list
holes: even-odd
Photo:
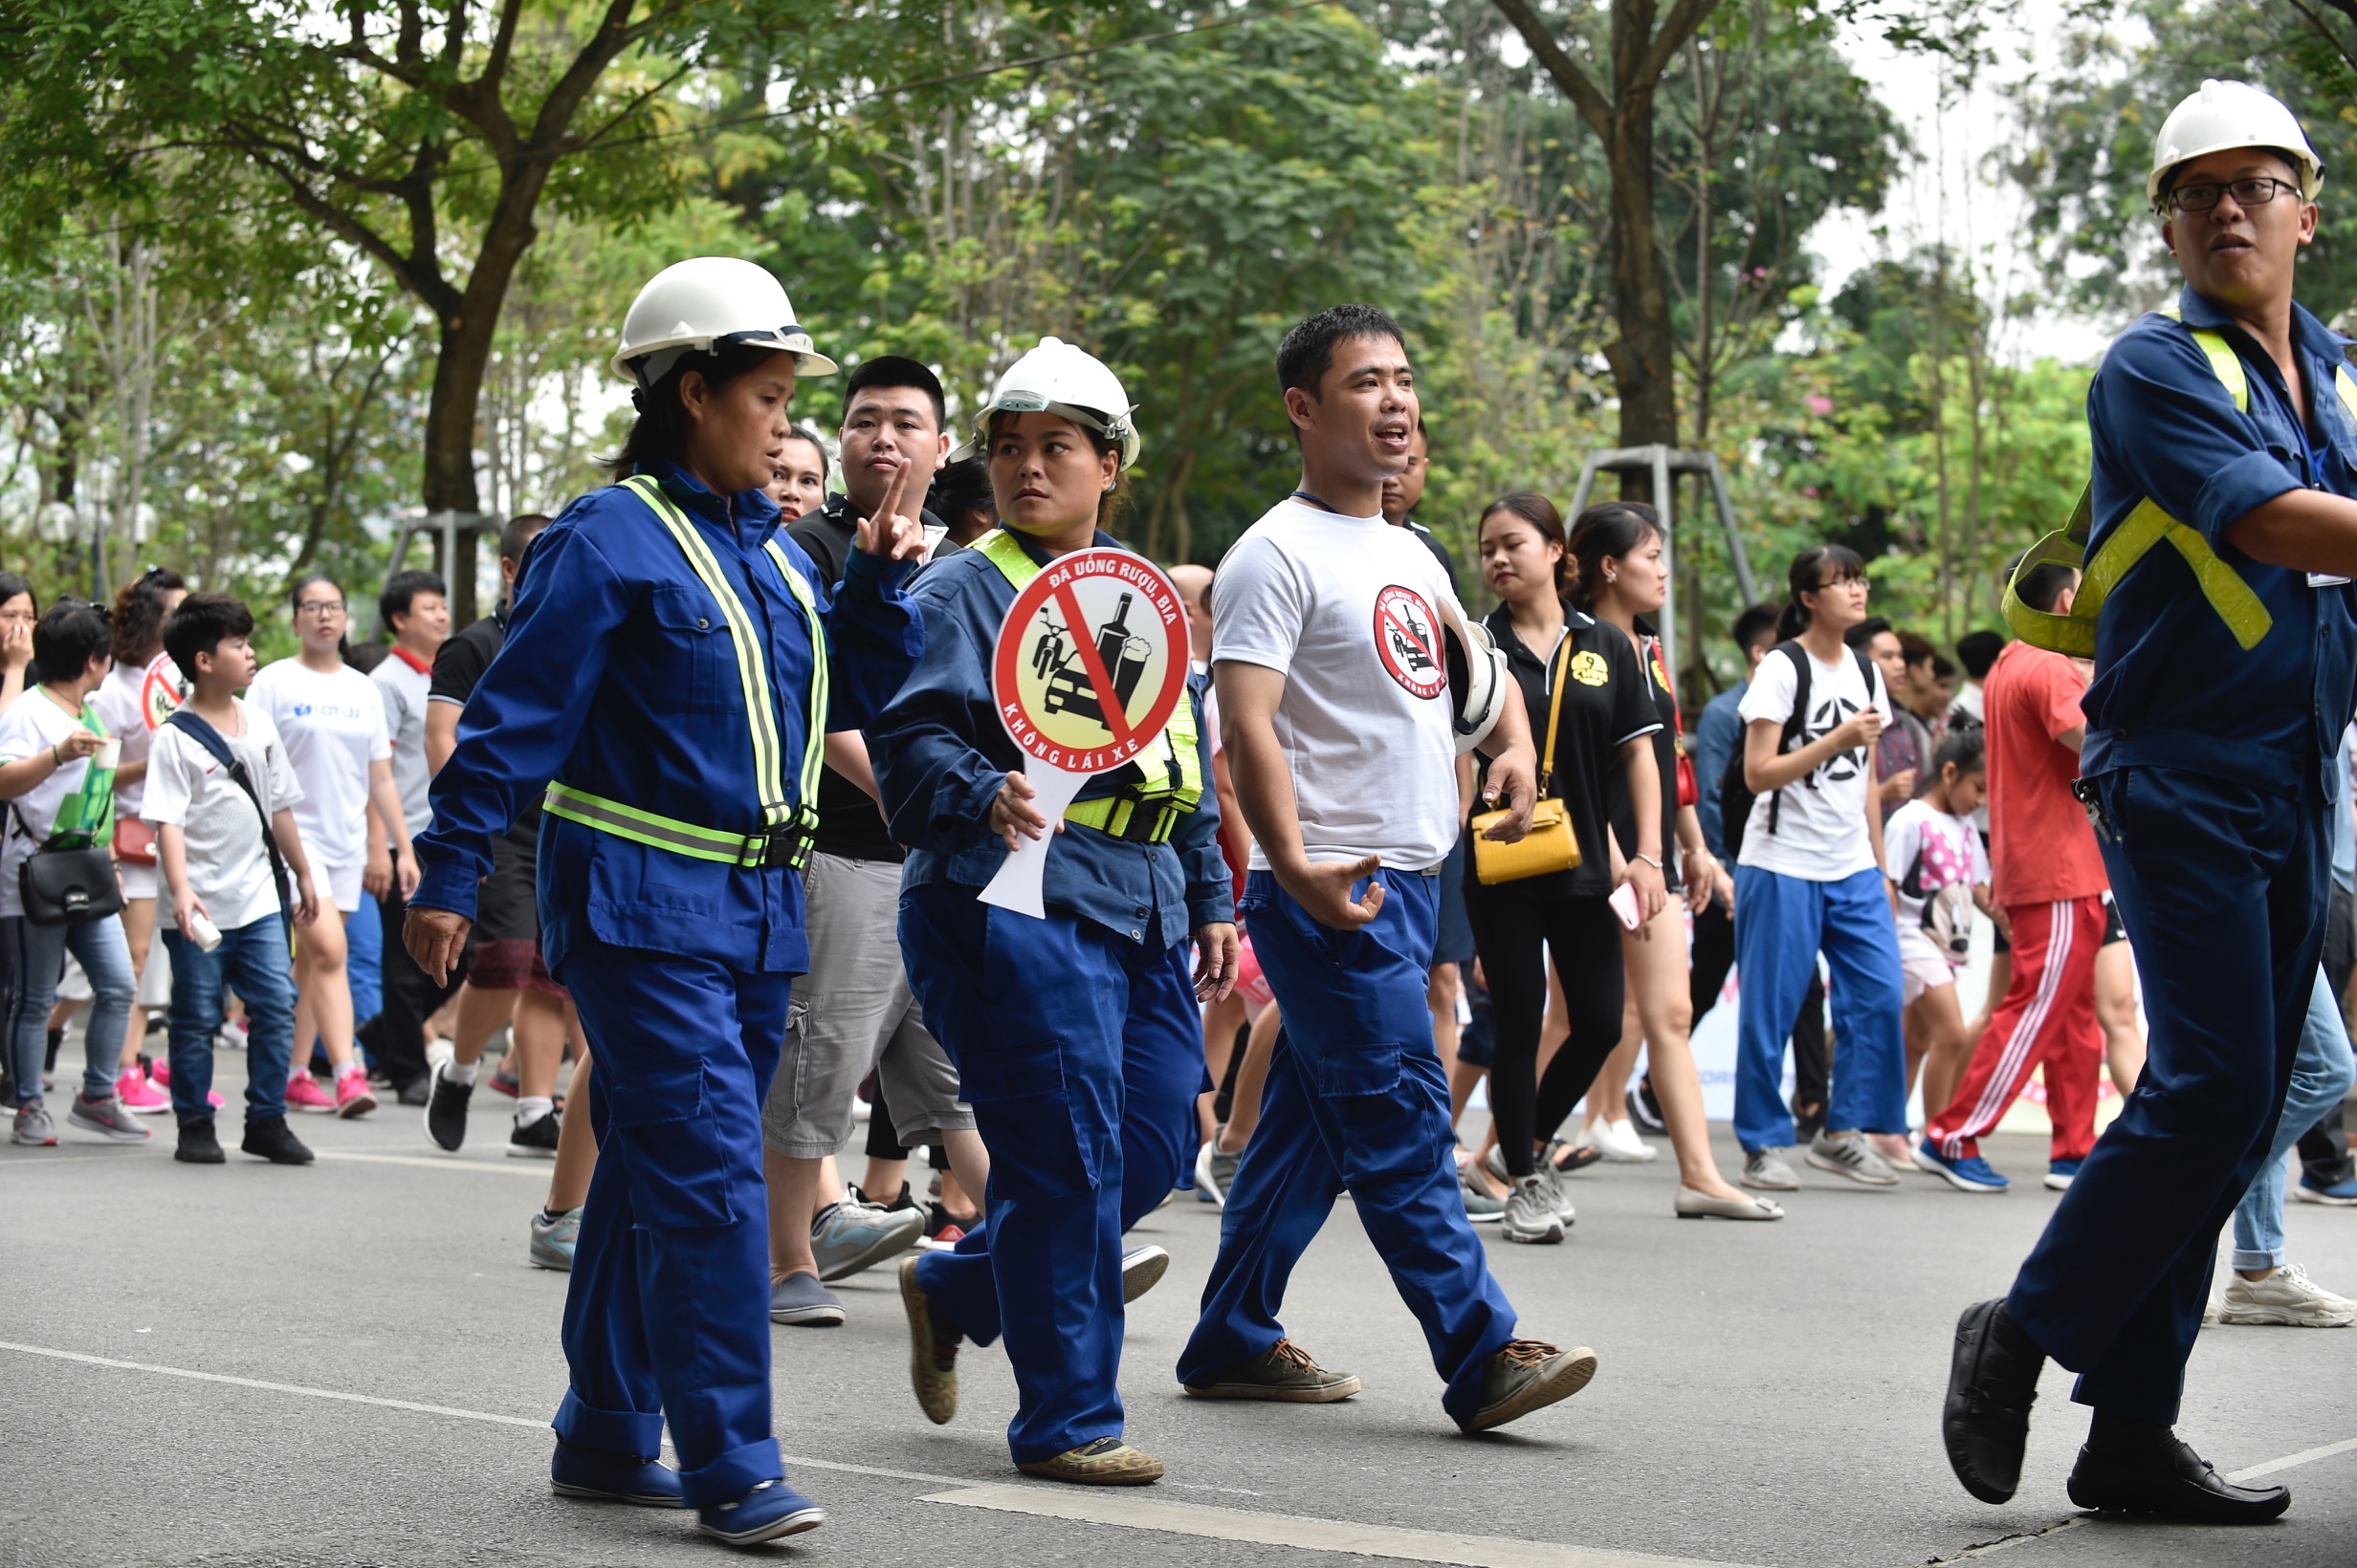
[(1914, 1083), (1916, 1067), (1923, 1069), (1923, 1104), (1930, 1107), (1947, 1104), (1973, 1057), (1973, 1036), (1956, 1005), (1956, 970), (1973, 939), (1973, 909), (1996, 921), (1999, 930), (2006, 911), (1989, 902), (1989, 852), (1973, 826), (1973, 812), (1989, 793), (1980, 730), (1945, 739), (1926, 772), (1921, 793), (1883, 824), (1883, 869), (1900, 913), (1907, 1081)]

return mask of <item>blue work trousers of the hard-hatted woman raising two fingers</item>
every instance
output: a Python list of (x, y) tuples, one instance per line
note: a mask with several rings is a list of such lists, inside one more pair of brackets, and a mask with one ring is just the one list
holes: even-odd
[(785, 1474), (768, 1415), (761, 1097), (792, 975), (577, 942), (556, 977), (596, 1059), (596, 1175), (566, 1290), (556, 1436), (653, 1457), (688, 1507)]

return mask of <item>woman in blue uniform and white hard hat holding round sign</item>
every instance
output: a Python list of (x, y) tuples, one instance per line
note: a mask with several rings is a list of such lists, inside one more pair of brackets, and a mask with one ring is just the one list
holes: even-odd
[[(910, 1375), (924, 1413), (948, 1422), (959, 1340), (1004, 1335), (1016, 1464), (1143, 1483), (1162, 1462), (1122, 1441), (1122, 1231), (1193, 1156), (1197, 1001), (1226, 996), (1237, 972), (1209, 746), (1190, 690), (1150, 765), (1094, 777), (1063, 822), (1032, 808), (990, 695), (990, 652), (1049, 560), (1115, 546), (1103, 523), (1138, 438), (1113, 372), (1049, 337), (999, 379), (976, 450), (1002, 527), (917, 579), (926, 655), (867, 727), (884, 812), (910, 845), (910, 984), (990, 1147), (985, 1224), (955, 1253), (900, 1267)], [(1047, 918), (983, 904), (1006, 852), (1051, 829)]]

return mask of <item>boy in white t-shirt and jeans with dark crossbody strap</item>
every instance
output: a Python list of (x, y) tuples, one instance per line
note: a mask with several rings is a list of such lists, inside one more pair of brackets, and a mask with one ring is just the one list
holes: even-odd
[(172, 899), (163, 928), (172, 956), (172, 1111), (189, 1165), (219, 1165), (212, 1128), (212, 1031), (222, 1024), (222, 982), (245, 1003), (245, 1137), (240, 1149), (273, 1165), (309, 1165), (311, 1149), (288, 1130), (288, 1074), (295, 1052), (295, 970), (285, 890), (297, 890), (295, 925), (318, 918), (311, 862), (295, 831), (302, 786), (269, 713), (245, 706), (255, 678), (252, 612), (226, 593), (191, 593), (163, 626), (165, 652), (189, 678), (189, 702), (158, 730), (148, 751), (141, 819), (156, 829), (156, 862)]

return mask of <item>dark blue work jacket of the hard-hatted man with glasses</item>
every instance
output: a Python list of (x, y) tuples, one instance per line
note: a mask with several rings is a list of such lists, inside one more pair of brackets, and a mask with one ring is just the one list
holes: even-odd
[[(2110, 593), (2095, 622), (2079, 768), (2183, 768), (2253, 789), (2298, 793), (2303, 775), (2338, 800), (2331, 758), (2357, 702), (2357, 591), (2310, 586), (2225, 542), (2253, 506), (2312, 485), (2357, 497), (2357, 421), (2333, 372), (2350, 339), (2291, 306), (2291, 346), (2308, 381), (2305, 417), (2275, 360), (2192, 287), (2185, 325), (2143, 315), (2112, 339), (2086, 393), (2093, 436), (2088, 560), (2150, 497), (2199, 532), (2275, 617), (2256, 647), (2201, 593), (2185, 558), (2154, 546)], [(2251, 384), (2234, 407), (2190, 327), (2232, 344)]]

